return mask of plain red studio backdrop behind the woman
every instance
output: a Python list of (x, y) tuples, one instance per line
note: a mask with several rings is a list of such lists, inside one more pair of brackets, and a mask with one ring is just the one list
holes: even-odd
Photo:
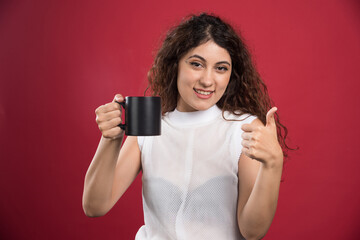
[(359, 239), (355, 0), (2, 0), (0, 239), (134, 239), (141, 175), (107, 215), (82, 210), (94, 110), (115, 93), (142, 95), (166, 30), (203, 11), (242, 31), (300, 148), (265, 239)]

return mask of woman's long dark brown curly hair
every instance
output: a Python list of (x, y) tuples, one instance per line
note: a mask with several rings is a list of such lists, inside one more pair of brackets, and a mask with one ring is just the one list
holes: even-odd
[[(161, 97), (163, 114), (173, 111), (177, 105), (179, 60), (189, 50), (209, 40), (226, 49), (232, 61), (229, 84), (224, 95), (216, 103), (222, 109), (223, 117), (225, 111), (235, 115), (248, 113), (256, 115), (265, 125), (266, 113), (271, 108), (272, 101), (243, 38), (228, 23), (207, 13), (191, 15), (178, 26), (171, 28), (148, 72), (148, 89), (152, 95)], [(287, 150), (291, 149), (285, 142), (288, 131), (280, 123), (277, 113), (275, 119), (278, 140), (286, 157)]]

